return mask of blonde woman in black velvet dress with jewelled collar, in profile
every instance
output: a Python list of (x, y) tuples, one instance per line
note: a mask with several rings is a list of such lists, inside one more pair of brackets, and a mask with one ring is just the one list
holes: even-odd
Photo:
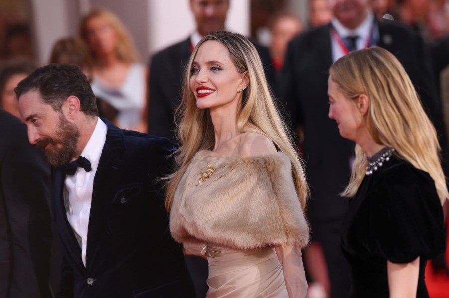
[(357, 144), (342, 194), (351, 198), (342, 225), (350, 297), (429, 297), (427, 260), (446, 247), (437, 132), (387, 50), (350, 53), (329, 74), (329, 117)]

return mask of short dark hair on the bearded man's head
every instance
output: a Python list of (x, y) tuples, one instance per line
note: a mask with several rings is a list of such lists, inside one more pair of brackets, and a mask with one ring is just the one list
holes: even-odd
[(86, 115), (98, 115), (95, 95), (81, 69), (69, 64), (49, 64), (36, 69), (15, 88), (17, 99), (22, 94), (37, 91), (42, 101), (55, 111), (60, 111), (69, 96), (76, 96), (80, 111)]

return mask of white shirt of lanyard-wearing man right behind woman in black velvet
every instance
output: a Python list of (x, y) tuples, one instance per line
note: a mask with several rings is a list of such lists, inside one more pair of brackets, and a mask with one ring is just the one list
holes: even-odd
[[(337, 31), (338, 35), (341, 38), (346, 38), (347, 36), (354, 36), (357, 35), (359, 38), (356, 40), (356, 47), (357, 50), (361, 50), (365, 48), (368, 39), (378, 40), (379, 36), (379, 29), (377, 26), (374, 26), (374, 14), (373, 12), (369, 12), (368, 16), (365, 18), (365, 20), (355, 29), (348, 29), (346, 28), (337, 18), (333, 18), (332, 26), (334, 27), (335, 31)], [(371, 36), (373, 34), (373, 36)], [(331, 46), (332, 46), (332, 61), (335, 62), (339, 58), (343, 57), (345, 53), (343, 52), (343, 49), (338, 44), (337, 40), (332, 36), (331, 34)]]

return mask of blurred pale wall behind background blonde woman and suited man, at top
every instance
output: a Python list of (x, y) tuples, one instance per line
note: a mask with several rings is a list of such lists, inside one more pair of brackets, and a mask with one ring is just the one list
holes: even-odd
[[(48, 63), (53, 44), (77, 34), (80, 17), (90, 7), (114, 11), (134, 37), (142, 62), (195, 30), (189, 0), (30, 0), (37, 63)], [(249, 0), (230, 0), (228, 30), (249, 34)]]

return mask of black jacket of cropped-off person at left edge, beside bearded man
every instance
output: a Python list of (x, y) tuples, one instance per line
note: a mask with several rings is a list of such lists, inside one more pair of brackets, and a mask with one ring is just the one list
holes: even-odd
[(50, 167), (0, 108), (0, 297), (50, 297)]

